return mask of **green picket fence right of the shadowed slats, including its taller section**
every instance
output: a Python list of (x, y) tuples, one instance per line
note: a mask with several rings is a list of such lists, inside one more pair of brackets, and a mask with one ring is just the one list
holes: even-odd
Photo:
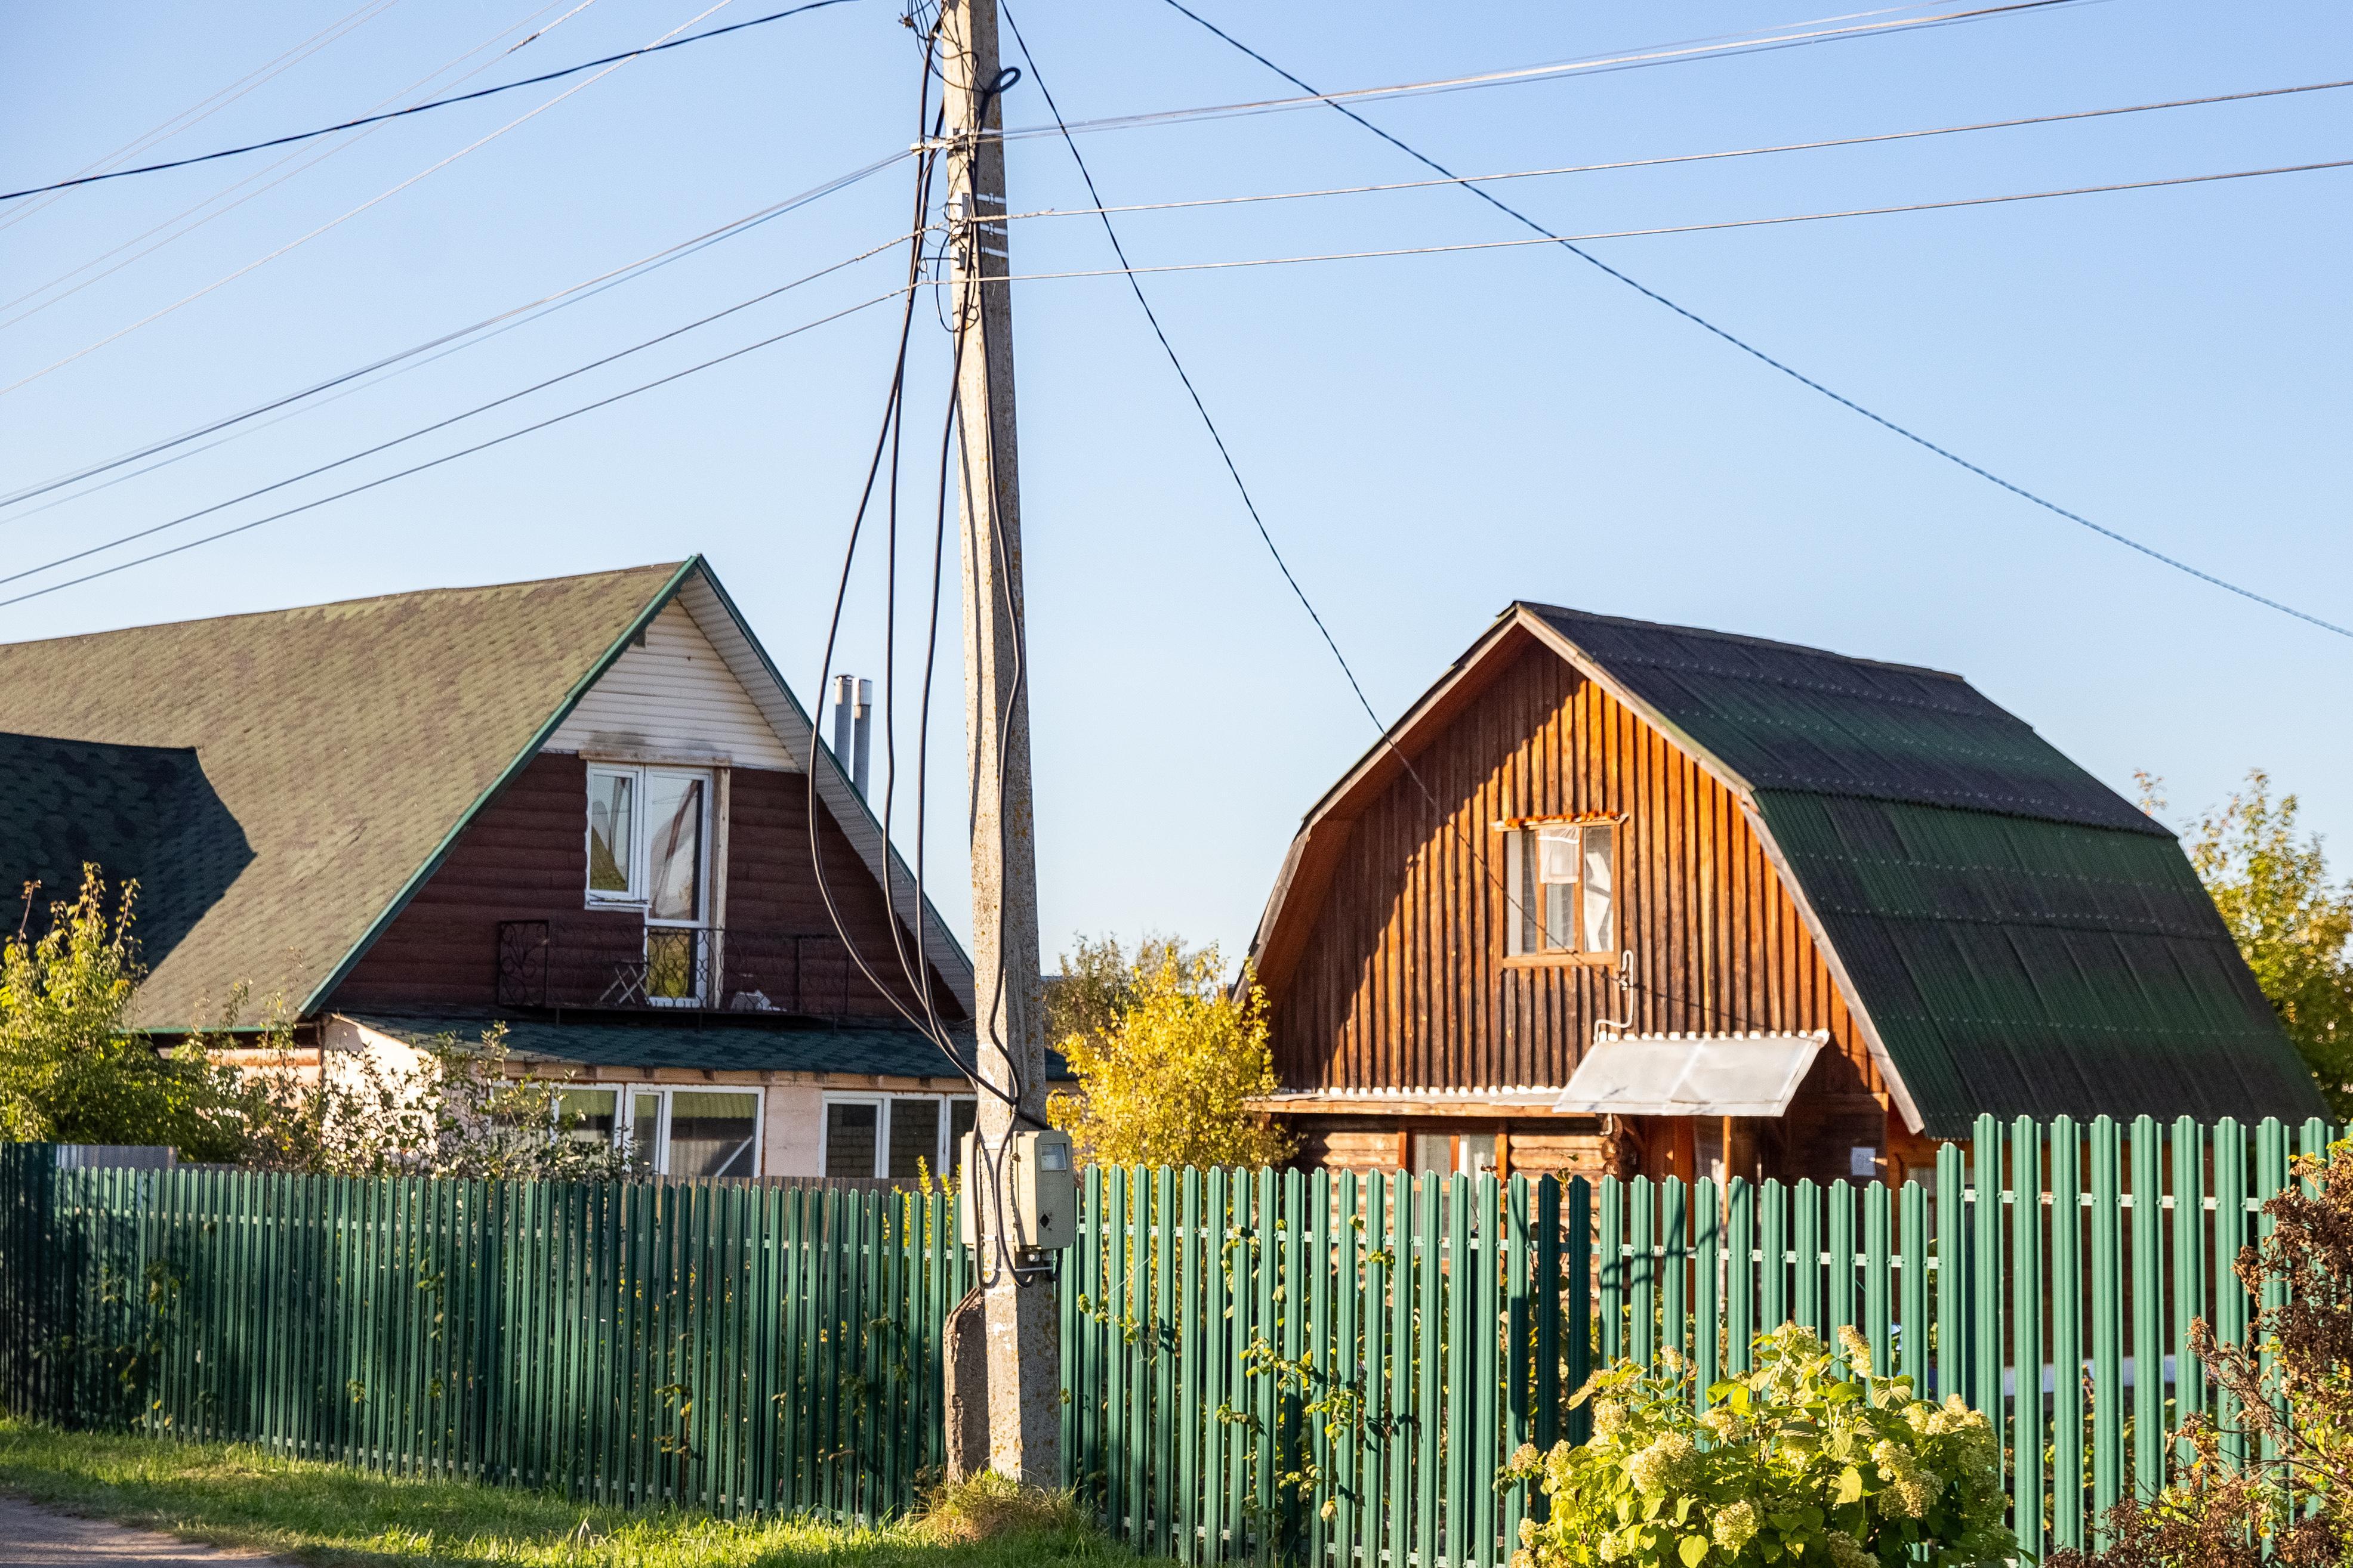
[(2231, 1427), (2191, 1321), (2247, 1342), (2259, 1302), (2233, 1262), (2268, 1234), (2289, 1159), (2339, 1135), (1984, 1117), (1932, 1185), (1602, 1180), (1595, 1349), (1675, 1345), (1706, 1387), (1748, 1368), (1762, 1328), (1852, 1324), (1880, 1371), (1993, 1418), (2024, 1552), (2080, 1547), (2111, 1505), (2165, 1483), (2188, 1415)]

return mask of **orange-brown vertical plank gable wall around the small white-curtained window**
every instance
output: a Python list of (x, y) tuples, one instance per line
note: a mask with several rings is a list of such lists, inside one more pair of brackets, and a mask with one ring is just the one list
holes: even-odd
[(1355, 816), (1299, 959), (1268, 976), (1285, 1088), (1565, 1084), (1621, 992), (1607, 969), (1504, 964), (1494, 823), (1579, 813), (1624, 818), (1635, 1030), (1831, 1030), (1809, 1095), (1882, 1088), (1739, 802), (1602, 686), (1529, 644), (1412, 764), (1421, 783)]

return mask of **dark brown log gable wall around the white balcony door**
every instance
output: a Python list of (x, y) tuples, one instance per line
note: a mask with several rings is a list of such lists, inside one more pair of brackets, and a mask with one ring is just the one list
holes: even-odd
[[(819, 806), (824, 811), (824, 806)], [(560, 922), (562, 933), (598, 933), (616, 947), (635, 943), (642, 917), (626, 910), (584, 907), (588, 886), (588, 764), (567, 752), (541, 752), (489, 802), (449, 849), (449, 858), (416, 891), (416, 898), (376, 938), (327, 1001), (329, 1009), (384, 1011), (494, 1011), (499, 1004), (499, 922)], [(727, 806), (727, 917), (729, 952), (774, 947), (786, 933), (831, 933), (816, 877), (809, 867), (807, 792), (800, 773), (734, 769)], [(894, 976), (889, 917), (882, 893), (831, 816), (821, 832), (826, 884), (842, 910), (859, 952), (875, 973)], [(901, 922), (901, 940), (904, 938)], [(741, 936), (741, 943), (739, 943)], [(911, 947), (913, 950), (913, 947)], [(833, 950), (838, 954), (838, 947)], [(729, 973), (739, 966), (734, 957)], [(852, 1018), (899, 1013), (868, 985), (838, 978), (835, 957), (821, 1011)], [(816, 964), (812, 964), (816, 973)], [(936, 973), (934, 999), (944, 1016), (962, 1006)], [(901, 987), (904, 990), (904, 987)], [(842, 1001), (847, 997), (847, 1001)], [(776, 994), (779, 1006), (791, 997)]]

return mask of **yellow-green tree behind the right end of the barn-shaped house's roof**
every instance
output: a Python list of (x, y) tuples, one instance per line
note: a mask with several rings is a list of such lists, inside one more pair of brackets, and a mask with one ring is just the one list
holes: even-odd
[[(2141, 804), (2162, 809), (2160, 788), (2144, 773)], [(2353, 882), (2329, 882), (2320, 835), (2299, 837), (2297, 797), (2273, 797), (2261, 769), (2198, 818), (2188, 851), (2329, 1112), (2353, 1117)]]

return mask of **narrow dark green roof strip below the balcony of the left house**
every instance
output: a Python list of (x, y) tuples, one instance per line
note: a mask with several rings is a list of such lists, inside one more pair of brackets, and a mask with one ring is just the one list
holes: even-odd
[[(426, 1044), (438, 1037), (473, 1041), (487, 1016), (344, 1013), (369, 1030)], [(955, 1065), (915, 1030), (831, 1027), (800, 1020), (713, 1018), (701, 1027), (678, 1023), (574, 1023), (508, 1018), (506, 1048), (581, 1067), (696, 1067), (713, 1072), (871, 1072), (894, 1079), (953, 1079)], [(969, 1060), (972, 1032), (951, 1030), (958, 1056)], [(1047, 1051), (1047, 1077), (1068, 1079), (1059, 1051)]]

